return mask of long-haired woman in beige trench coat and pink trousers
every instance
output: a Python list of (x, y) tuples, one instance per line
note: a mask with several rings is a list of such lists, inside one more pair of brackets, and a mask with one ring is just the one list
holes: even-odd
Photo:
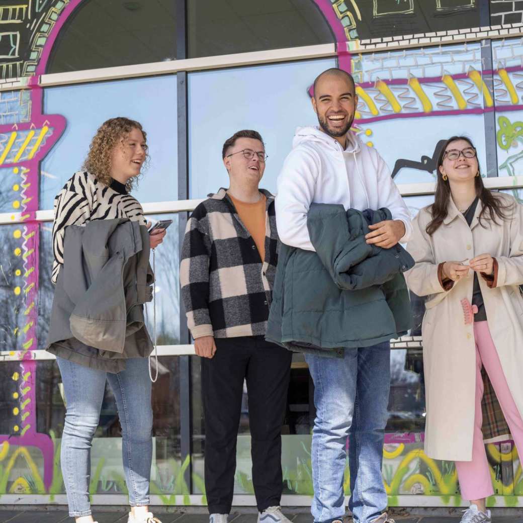
[(483, 186), (476, 150), (450, 138), (438, 160), (435, 203), (419, 211), (407, 250), (408, 285), (426, 296), (425, 452), (456, 461), (463, 523), (490, 523), (494, 491), (482, 435), (484, 367), (523, 456), (523, 211)]

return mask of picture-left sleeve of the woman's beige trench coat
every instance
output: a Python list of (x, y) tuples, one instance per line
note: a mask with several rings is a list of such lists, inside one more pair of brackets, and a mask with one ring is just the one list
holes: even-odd
[(418, 296), (447, 292), (442, 287), (438, 271), (439, 264), (434, 259), (431, 238), (425, 231), (427, 218), (428, 214), (425, 209), (418, 212), (412, 222), (411, 240), (407, 243), (407, 251), (414, 258), (416, 265), (405, 272), (405, 278), (408, 287)]

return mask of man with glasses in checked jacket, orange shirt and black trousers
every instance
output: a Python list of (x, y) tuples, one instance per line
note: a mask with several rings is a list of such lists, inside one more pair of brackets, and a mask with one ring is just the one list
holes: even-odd
[(259, 189), (266, 159), (256, 131), (238, 131), (225, 141), (229, 189), (194, 210), (182, 249), (181, 294), (202, 357), (211, 523), (226, 523), (231, 511), (244, 381), (258, 522), (290, 523), (279, 504), (291, 353), (264, 339), (278, 260), (274, 196)]

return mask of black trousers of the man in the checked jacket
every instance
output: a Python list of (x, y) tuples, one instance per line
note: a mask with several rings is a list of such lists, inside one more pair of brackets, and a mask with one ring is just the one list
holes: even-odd
[(281, 425), (287, 405), (291, 353), (262, 336), (216, 338), (214, 358), (202, 358), (205, 488), (209, 514), (231, 511), (243, 381), (247, 381), (256, 504), (280, 504)]

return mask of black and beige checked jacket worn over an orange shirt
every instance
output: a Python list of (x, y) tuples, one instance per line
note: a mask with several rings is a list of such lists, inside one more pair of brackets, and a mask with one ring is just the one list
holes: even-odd
[(264, 335), (278, 261), (274, 196), (267, 197), (265, 260), (225, 189), (187, 222), (180, 283), (192, 337)]

